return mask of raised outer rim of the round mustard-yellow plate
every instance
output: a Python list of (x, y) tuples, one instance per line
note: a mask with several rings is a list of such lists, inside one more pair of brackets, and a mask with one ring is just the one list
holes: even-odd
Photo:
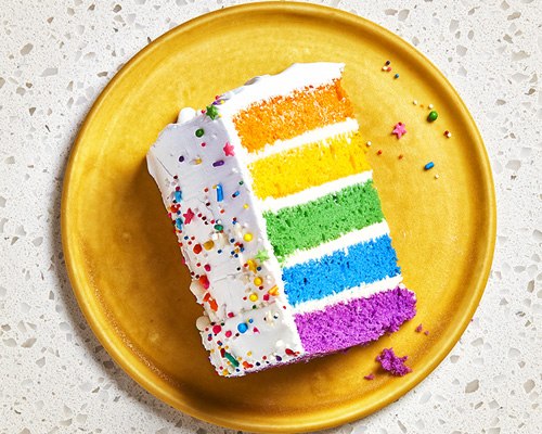
[[(357, 409), (353, 411), (344, 411), (339, 416), (336, 416), (332, 419), (325, 419), (325, 421), (304, 421), (297, 423), (289, 423), (283, 425), (270, 425), (266, 423), (254, 423), (254, 422), (244, 422), (243, 420), (237, 419), (224, 419), (221, 417), (214, 417), (212, 414), (205, 413), (199, 411), (197, 408), (191, 407), (190, 403), (180, 401), (179, 399), (173, 399), (167, 391), (159, 387), (156, 384), (156, 381), (150, 380), (149, 374), (145, 374), (144, 371), (138, 369), (136, 363), (132, 362), (133, 354), (130, 353), (131, 357), (127, 356), (127, 352), (122, 352), (122, 348), (119, 348), (114, 344), (111, 340), (109, 334), (106, 327), (103, 327), (100, 319), (96, 316), (96, 312), (91, 308), (88, 301), (86, 299), (85, 294), (87, 291), (83, 286), (86, 286), (78, 279), (78, 266), (76, 261), (74, 261), (74, 253), (72, 243), (69, 241), (69, 203), (70, 203), (70, 179), (74, 177), (77, 155), (82, 146), (85, 133), (87, 129), (90, 128), (94, 117), (99, 114), (100, 107), (102, 103), (107, 99), (107, 97), (114, 91), (116, 85), (122, 80), (122, 78), (133, 68), (136, 65), (141, 62), (145, 56), (150, 55), (153, 50), (157, 49), (162, 43), (164, 43), (169, 38), (178, 37), (180, 34), (190, 31), (198, 26), (205, 25), (208, 22), (212, 22), (215, 20), (224, 20), (229, 15), (243, 15), (245, 13), (262, 13), (270, 10), (273, 10), (274, 13), (278, 11), (282, 11), (286, 14), (297, 13), (304, 16), (318, 16), (322, 17), (322, 15), (330, 16), (333, 14), (338, 21), (344, 23), (348, 23), (349, 25), (353, 25), (356, 27), (363, 27), (364, 29), (370, 29), (375, 34), (378, 34), (384, 39), (391, 40), (396, 44), (402, 44), (409, 51), (409, 54), (415, 55), (420, 59), (421, 62), (425, 63), (429, 69), (433, 71), (440, 80), (444, 82), (447, 88), (451, 91), (453, 97), (456, 100), (456, 104), (459, 105), (460, 111), (464, 114), (465, 118), (468, 120), (468, 129), (474, 133), (474, 138), (476, 139), (477, 144), (479, 144), (480, 150), (480, 163), (479, 167), (480, 173), (483, 175), (483, 178), (487, 180), (485, 183), (485, 193), (488, 200), (487, 203), (487, 243), (486, 243), (486, 257), (481, 264), (480, 271), (478, 272), (478, 278), (473, 284), (473, 295), (470, 297), (468, 309), (464, 311), (462, 316), (462, 321), (457, 322), (456, 327), (452, 329), (452, 332), (449, 333), (448, 339), (446, 339), (441, 345), (440, 349), (436, 355), (429, 359), (423, 368), (416, 370), (415, 375), (412, 375), (410, 379), (405, 379), (392, 394), (390, 394), (385, 399), (380, 399), (375, 401), (373, 405), (367, 407)], [(181, 25), (168, 30), (160, 37), (156, 38), (154, 41), (145, 46), (143, 49), (138, 51), (109, 80), (109, 82), (102, 90), (100, 95), (96, 98), (95, 102), (92, 104), (90, 111), (87, 113), (85, 120), (79, 128), (79, 132), (74, 141), (74, 144), (69, 151), (69, 159), (66, 165), (66, 169), (64, 173), (63, 180), (63, 190), (62, 190), (62, 201), (61, 201), (61, 238), (62, 238), (62, 246), (65, 257), (66, 269), (70, 282), (70, 286), (76, 296), (79, 308), (81, 309), (88, 324), (90, 326), (92, 332), (100, 341), (102, 346), (106, 349), (109, 356), (118, 363), (122, 370), (129, 374), (129, 376), (134, 380), (139, 385), (141, 385), (145, 391), (157, 397), (158, 399), (167, 403), (171, 407), (180, 410), (186, 414), (201, 419), (203, 421), (214, 423), (220, 426), (234, 429), (234, 430), (245, 430), (253, 432), (306, 432), (306, 431), (314, 431), (314, 430), (324, 430), (334, 426), (341, 425), (344, 423), (352, 422), (354, 420), (362, 419), (373, 412), (380, 410), (392, 401), (404, 396), (409, 391), (411, 391), (414, 386), (425, 380), (448, 356), (453, 346), (459, 342), (461, 336), (463, 335), (465, 329), (467, 328), (470, 319), (473, 318), (479, 303), (481, 296), (485, 292), (489, 273), (491, 270), (491, 265), (494, 256), (494, 247), (495, 247), (495, 239), (496, 239), (496, 201), (495, 201), (495, 190), (494, 190), (494, 180), (492, 176), (492, 170), (489, 162), (489, 156), (487, 149), (485, 146), (481, 135), (478, 130), (478, 127), (467, 108), (465, 102), (461, 99), (460, 94), (455, 90), (455, 88), (451, 85), (448, 78), (438, 69), (433, 62), (427, 59), (422, 52), (420, 52), (415, 47), (410, 44), (406, 40), (402, 39), (398, 35), (393, 34), (391, 30), (386, 29), (385, 27), (366, 20), (362, 16), (354, 15), (352, 13), (338, 10), (335, 8), (321, 5), (321, 4), (312, 4), (312, 3), (301, 3), (301, 2), (292, 2), (292, 1), (264, 1), (258, 3), (245, 3), (234, 7), (228, 7), (224, 9), (219, 9), (199, 16), (196, 16)]]

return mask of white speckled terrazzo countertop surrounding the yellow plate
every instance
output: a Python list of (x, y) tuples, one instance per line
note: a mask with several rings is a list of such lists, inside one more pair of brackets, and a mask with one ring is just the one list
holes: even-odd
[[(540, 1), (314, 2), (387, 27), (448, 76), (485, 138), (499, 207), (491, 277), (461, 342), (398, 403), (330, 432), (540, 432)], [(93, 336), (64, 268), (60, 197), (76, 131), (122, 64), (171, 27), (237, 3), (0, 2), (0, 433), (224, 432), (146, 393)]]

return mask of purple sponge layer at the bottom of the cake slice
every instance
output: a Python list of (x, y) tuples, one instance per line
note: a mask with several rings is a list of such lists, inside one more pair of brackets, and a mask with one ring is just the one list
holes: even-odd
[(337, 352), (375, 341), (399, 329), (416, 314), (416, 297), (396, 288), (295, 316), (301, 343), (309, 356)]

